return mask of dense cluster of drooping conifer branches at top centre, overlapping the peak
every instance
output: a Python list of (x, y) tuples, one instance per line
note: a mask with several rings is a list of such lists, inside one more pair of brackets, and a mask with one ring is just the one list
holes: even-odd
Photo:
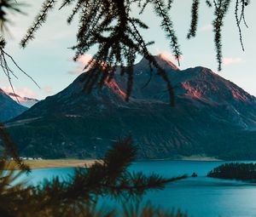
[[(49, 9), (52, 9), (56, 1), (46, 1), (35, 23), (27, 31), (26, 37), (21, 41), (23, 47), (34, 37), (35, 31), (45, 21)], [(141, 1), (133, 1), (141, 4)], [(147, 1), (145, 1), (147, 2)], [(177, 45), (177, 37), (172, 28), (172, 22), (167, 15), (166, 4), (162, 0), (152, 2), (156, 14), (162, 17), (161, 26), (166, 31), (166, 37), (171, 38), (171, 47), (179, 58), (181, 54)], [(64, 1), (61, 8), (74, 4), (73, 13), (67, 18), (71, 23), (73, 16), (79, 14), (78, 43), (73, 46), (76, 54), (74, 60), (86, 53), (92, 46), (97, 46), (98, 51), (90, 60), (84, 70), (90, 67), (84, 91), (90, 93), (94, 86), (102, 87), (105, 82), (111, 81), (116, 66), (121, 66), (121, 73), (127, 76), (126, 99), (129, 100), (133, 82), (133, 65), (136, 54), (142, 54), (160, 69), (160, 76), (167, 82), (167, 89), (172, 93), (172, 85), (166, 77), (165, 71), (155, 65), (152, 55), (148, 52), (148, 45), (138, 31), (139, 28), (147, 29), (141, 20), (131, 16), (131, 1)], [(143, 4), (144, 7), (146, 6)], [(142, 6), (143, 7), (143, 6)], [(126, 66), (126, 67), (125, 67)], [(172, 95), (173, 98), (173, 95)], [(173, 99), (172, 99), (173, 100)]]

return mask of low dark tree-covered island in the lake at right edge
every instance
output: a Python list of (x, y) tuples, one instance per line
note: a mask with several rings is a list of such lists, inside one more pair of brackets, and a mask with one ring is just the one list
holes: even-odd
[(256, 181), (256, 163), (224, 163), (213, 168), (207, 177)]

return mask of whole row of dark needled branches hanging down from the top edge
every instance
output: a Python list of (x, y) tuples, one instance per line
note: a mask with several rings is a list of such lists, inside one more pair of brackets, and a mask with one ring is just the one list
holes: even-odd
[[(171, 104), (174, 105), (174, 94), (171, 81), (166, 72), (154, 60), (152, 54), (148, 51), (148, 46), (154, 42), (145, 42), (141, 29), (147, 29), (148, 26), (142, 19), (136, 18), (132, 14), (132, 6), (136, 5), (140, 9), (140, 14), (152, 6), (154, 14), (160, 17), (160, 26), (165, 32), (166, 38), (170, 43), (172, 54), (176, 57), (179, 64), (182, 54), (177, 40), (176, 32), (172, 23), (172, 5), (174, 0), (45, 0), (42, 9), (35, 18), (32, 26), (28, 29), (26, 36), (21, 40), (21, 46), (26, 47), (27, 43), (35, 37), (35, 33), (46, 21), (47, 15), (56, 4), (61, 2), (60, 9), (64, 7), (73, 7), (73, 12), (67, 17), (67, 23), (71, 24), (75, 15), (79, 15), (79, 28), (77, 31), (77, 44), (73, 46), (75, 51), (74, 60), (80, 55), (85, 54), (93, 46), (97, 47), (96, 54), (92, 60), (84, 66), (84, 70), (90, 67), (88, 71), (87, 82), (84, 84), (84, 90), (90, 93), (94, 86), (102, 87), (105, 82), (109, 82), (115, 73), (117, 66), (121, 67), (121, 75), (127, 77), (126, 100), (131, 95), (133, 82), (133, 65), (137, 54), (142, 55), (148, 60), (149, 66), (158, 69), (158, 74), (166, 81), (169, 90)], [(213, 33), (216, 49), (216, 58), (218, 61), (218, 70), (222, 65), (222, 28), (224, 26), (224, 17), (232, 2), (236, 3), (235, 17), (238, 28), (241, 47), (244, 50), (241, 37), (241, 25), (247, 26), (245, 20), (245, 8), (250, 3), (249, 0), (192, 0), (191, 6), (191, 24), (188, 38), (195, 37), (197, 23), (199, 20), (198, 11), (200, 3), (207, 4), (213, 12)], [(126, 66), (126, 67), (125, 67)], [(152, 71), (151, 71), (152, 73)]]

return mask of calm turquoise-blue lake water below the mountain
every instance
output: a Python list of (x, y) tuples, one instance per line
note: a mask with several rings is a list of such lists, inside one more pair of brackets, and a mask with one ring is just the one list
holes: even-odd
[[(236, 180), (207, 178), (207, 172), (226, 162), (198, 161), (147, 161), (136, 162), (131, 170), (152, 172), (164, 177), (181, 174), (189, 176), (196, 172), (198, 177), (189, 177), (166, 185), (163, 191), (150, 191), (143, 201), (167, 209), (180, 208), (191, 217), (253, 217), (256, 216), (256, 186)], [(251, 162), (250, 162), (251, 163)], [(34, 169), (25, 179), (36, 185), (44, 179), (58, 175), (67, 179), (73, 168)]]

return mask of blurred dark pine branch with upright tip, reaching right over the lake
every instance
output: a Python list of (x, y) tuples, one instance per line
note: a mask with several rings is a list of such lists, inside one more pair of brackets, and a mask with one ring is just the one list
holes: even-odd
[(135, 198), (143, 196), (146, 191), (162, 189), (166, 183), (186, 178), (183, 175), (164, 179), (157, 174), (130, 173), (128, 167), (135, 156), (136, 148), (131, 144), (131, 138), (119, 140), (101, 162), (90, 168), (77, 169), (71, 181), (55, 179), (46, 182), (42, 192), (38, 189), (38, 195), (42, 193), (49, 198), (45, 206), (91, 200), (95, 195)]

